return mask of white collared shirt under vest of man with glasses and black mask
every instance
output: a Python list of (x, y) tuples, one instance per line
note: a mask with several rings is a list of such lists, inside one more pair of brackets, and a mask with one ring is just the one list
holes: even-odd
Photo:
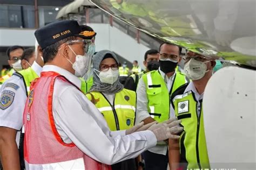
[[(164, 72), (162, 72), (159, 68), (159, 73), (161, 77), (165, 80), (166, 87), (168, 91), (171, 90), (173, 78), (176, 73), (174, 73), (170, 78), (166, 76)], [(150, 117), (149, 111), (147, 110), (147, 103), (149, 102), (146, 93), (146, 84), (143, 79), (139, 80), (137, 87), (137, 113), (136, 113), (136, 124), (144, 121), (147, 117)], [(149, 151), (157, 154), (166, 155), (167, 153), (167, 145), (157, 145), (156, 147), (151, 148)]]

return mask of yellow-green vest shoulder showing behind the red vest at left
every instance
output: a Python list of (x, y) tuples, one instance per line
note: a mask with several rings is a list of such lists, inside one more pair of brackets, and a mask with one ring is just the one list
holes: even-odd
[(21, 77), (23, 79), (25, 90), (26, 90), (26, 96), (28, 96), (29, 94), (31, 82), (39, 77), (36, 74), (35, 70), (33, 70), (31, 67), (27, 69), (23, 69), (19, 72), (16, 72), (13, 75)]

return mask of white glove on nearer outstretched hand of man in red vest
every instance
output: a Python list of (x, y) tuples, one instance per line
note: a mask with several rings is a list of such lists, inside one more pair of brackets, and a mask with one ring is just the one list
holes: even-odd
[(183, 127), (178, 127), (181, 121), (177, 121), (177, 118), (169, 119), (163, 123), (157, 123), (150, 126), (149, 129), (156, 135), (157, 141), (166, 140), (169, 138), (178, 139), (179, 136), (174, 135), (173, 133), (179, 133), (183, 131)]

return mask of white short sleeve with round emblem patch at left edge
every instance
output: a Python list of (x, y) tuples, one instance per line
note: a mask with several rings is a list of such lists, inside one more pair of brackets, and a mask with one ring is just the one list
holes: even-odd
[(0, 126), (21, 130), (26, 91), (23, 79), (12, 75), (1, 87)]

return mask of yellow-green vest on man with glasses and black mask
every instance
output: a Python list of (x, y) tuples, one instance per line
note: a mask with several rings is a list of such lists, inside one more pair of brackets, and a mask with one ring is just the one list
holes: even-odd
[(166, 121), (170, 117), (170, 95), (187, 82), (186, 76), (176, 72), (170, 91), (158, 70), (144, 74), (142, 79), (145, 82), (147, 100), (149, 100), (147, 103), (149, 114), (157, 122)]

